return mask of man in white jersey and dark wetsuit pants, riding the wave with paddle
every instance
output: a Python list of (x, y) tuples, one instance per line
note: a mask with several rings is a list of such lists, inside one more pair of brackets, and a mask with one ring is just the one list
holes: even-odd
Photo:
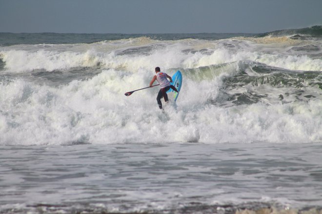
[[(166, 73), (161, 72), (159, 67), (156, 67), (155, 71), (157, 74), (154, 75), (154, 77), (152, 78), (152, 80), (150, 82), (150, 87), (152, 87), (154, 81), (157, 80), (159, 82), (161, 89), (160, 89), (158, 96), (157, 96), (157, 102), (159, 104), (160, 109), (162, 109), (161, 98), (162, 97), (164, 98), (164, 102), (168, 101), (168, 95), (166, 94), (166, 92), (170, 88), (173, 89), (174, 91), (177, 91), (177, 92), (178, 92), (178, 90), (176, 89), (176, 87), (174, 87), (170, 84), (170, 82), (172, 83), (171, 76), (169, 76)], [(170, 81), (168, 79), (170, 79)]]

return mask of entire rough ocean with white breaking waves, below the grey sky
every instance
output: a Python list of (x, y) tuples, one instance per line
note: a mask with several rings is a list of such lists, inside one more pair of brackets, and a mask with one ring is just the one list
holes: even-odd
[(322, 213), (322, 26), (0, 33), (0, 91), (0, 214)]

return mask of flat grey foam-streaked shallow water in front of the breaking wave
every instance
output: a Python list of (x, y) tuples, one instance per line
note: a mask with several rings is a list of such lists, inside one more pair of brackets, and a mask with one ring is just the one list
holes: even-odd
[(313, 209), (322, 204), (321, 152), (315, 143), (1, 146), (0, 209), (2, 213)]

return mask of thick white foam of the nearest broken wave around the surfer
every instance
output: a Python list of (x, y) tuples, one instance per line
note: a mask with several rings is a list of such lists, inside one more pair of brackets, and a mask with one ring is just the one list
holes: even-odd
[[(172, 74), (172, 73), (169, 73)], [(60, 88), (15, 80), (0, 85), (1, 144), (299, 143), (322, 141), (322, 102), (210, 105), (221, 77), (184, 80), (177, 105), (162, 112), (153, 71), (106, 70)], [(183, 73), (184, 76), (184, 73)], [(217, 92), (216, 92), (217, 91)]]

